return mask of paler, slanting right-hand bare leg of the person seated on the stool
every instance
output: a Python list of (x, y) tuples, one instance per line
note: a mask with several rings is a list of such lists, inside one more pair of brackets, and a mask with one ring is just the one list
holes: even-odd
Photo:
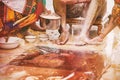
[(97, 0), (92, 0), (88, 11), (87, 11), (87, 15), (86, 15), (86, 19), (85, 22), (83, 24), (83, 28), (81, 30), (81, 34), (80, 34), (80, 40), (87, 42), (89, 40), (88, 38), (88, 31), (91, 27), (91, 24), (93, 23), (93, 20), (96, 16), (96, 12), (98, 9), (98, 1)]

